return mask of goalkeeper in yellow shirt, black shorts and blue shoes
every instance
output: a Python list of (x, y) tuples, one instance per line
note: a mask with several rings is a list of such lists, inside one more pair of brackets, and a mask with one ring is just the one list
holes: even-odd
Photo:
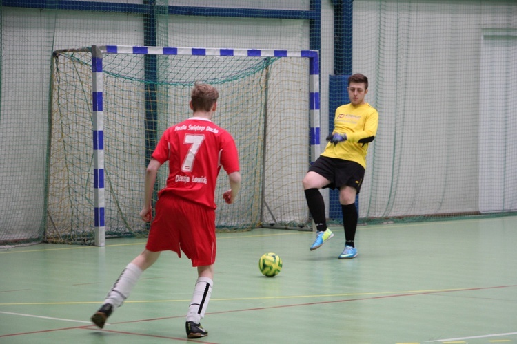
[(336, 109), (334, 131), (327, 137), (329, 142), (325, 151), (303, 178), (307, 206), (318, 230), (310, 250), (316, 250), (334, 236), (327, 228), (325, 202), (319, 189), (339, 190), (345, 228), (345, 248), (339, 259), (357, 257), (354, 239), (358, 213), (355, 201), (365, 175), (368, 144), (374, 140), (378, 127), (377, 110), (365, 102), (367, 93), (366, 76), (354, 74), (348, 78), (350, 103)]

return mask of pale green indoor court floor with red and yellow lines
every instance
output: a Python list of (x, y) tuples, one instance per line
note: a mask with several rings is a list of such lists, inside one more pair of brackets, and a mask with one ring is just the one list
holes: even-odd
[[(219, 233), (209, 335), (193, 343), (517, 343), (517, 217)], [(0, 343), (180, 343), (196, 272), (164, 252), (104, 330), (90, 324), (144, 239), (0, 250)], [(263, 277), (265, 252), (283, 259)]]

